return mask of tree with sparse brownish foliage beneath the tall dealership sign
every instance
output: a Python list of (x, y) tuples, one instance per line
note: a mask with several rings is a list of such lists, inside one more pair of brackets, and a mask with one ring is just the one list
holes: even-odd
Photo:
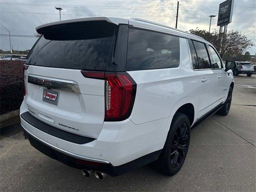
[(196, 30), (191, 29), (189, 32), (210, 42), (216, 48), (221, 58), (223, 58), (224, 54), (232, 57), (243, 54), (253, 45), (251, 39), (238, 31), (231, 30), (224, 35), (224, 33), (219, 33), (217, 30), (209, 33), (206, 30), (196, 28)]

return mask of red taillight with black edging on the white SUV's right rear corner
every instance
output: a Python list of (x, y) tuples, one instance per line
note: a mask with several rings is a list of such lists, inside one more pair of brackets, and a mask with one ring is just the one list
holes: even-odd
[(105, 121), (127, 119), (133, 108), (136, 82), (127, 72), (81, 71), (87, 78), (105, 80)]

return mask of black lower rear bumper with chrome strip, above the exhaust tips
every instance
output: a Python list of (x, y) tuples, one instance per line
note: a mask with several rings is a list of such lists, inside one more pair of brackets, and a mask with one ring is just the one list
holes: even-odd
[(48, 157), (58, 160), (76, 169), (92, 169), (95, 171), (105, 172), (112, 177), (119, 176), (121, 174), (129, 172), (130, 170), (148, 164), (156, 160), (161, 153), (161, 150), (158, 150), (121, 166), (115, 167), (108, 161), (78, 156), (76, 154), (61, 150), (60, 148), (56, 148), (55, 146), (44, 142), (40, 138), (33, 136), (24, 128), (23, 132), (25, 137), (29, 140), (30, 144)]

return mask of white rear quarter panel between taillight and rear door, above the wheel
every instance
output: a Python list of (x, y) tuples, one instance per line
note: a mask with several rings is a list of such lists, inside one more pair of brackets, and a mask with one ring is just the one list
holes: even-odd
[[(186, 103), (198, 111), (200, 75), (190, 67), (190, 55), (185, 38), (180, 38), (180, 65), (177, 68), (129, 71), (137, 83), (136, 98), (130, 119), (142, 124), (171, 118)], [(169, 127), (168, 127), (169, 128)]]

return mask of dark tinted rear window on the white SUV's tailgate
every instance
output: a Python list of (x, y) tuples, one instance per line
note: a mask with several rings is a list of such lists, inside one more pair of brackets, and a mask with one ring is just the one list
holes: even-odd
[(26, 64), (106, 70), (115, 28), (106, 21), (54, 26), (40, 37)]

